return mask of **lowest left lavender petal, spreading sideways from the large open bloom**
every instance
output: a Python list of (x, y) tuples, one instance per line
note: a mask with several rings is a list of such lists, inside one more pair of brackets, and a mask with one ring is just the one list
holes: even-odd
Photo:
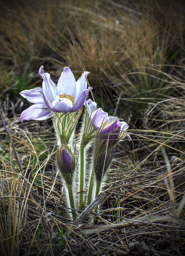
[(46, 120), (52, 113), (46, 109), (45, 104), (33, 104), (21, 113), (20, 120)]

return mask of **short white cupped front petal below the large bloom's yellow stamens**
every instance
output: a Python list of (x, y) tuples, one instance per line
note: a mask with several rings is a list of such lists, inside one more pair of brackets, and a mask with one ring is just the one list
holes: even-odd
[(68, 98), (61, 98), (58, 95), (56, 96), (56, 100), (52, 102), (52, 105), (59, 112), (67, 113), (72, 109), (72, 101)]

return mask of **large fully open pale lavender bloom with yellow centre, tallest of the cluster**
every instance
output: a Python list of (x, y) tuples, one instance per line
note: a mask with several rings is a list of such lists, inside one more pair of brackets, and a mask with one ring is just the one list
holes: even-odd
[(57, 86), (51, 80), (50, 74), (44, 73), (43, 66), (40, 67), (39, 74), (43, 78), (42, 88), (20, 92), (21, 96), (34, 103), (22, 112), (21, 122), (32, 119), (45, 120), (52, 115), (51, 112), (76, 112), (83, 106), (88, 91), (92, 89), (87, 88), (87, 71), (76, 82), (70, 68), (64, 67)]

